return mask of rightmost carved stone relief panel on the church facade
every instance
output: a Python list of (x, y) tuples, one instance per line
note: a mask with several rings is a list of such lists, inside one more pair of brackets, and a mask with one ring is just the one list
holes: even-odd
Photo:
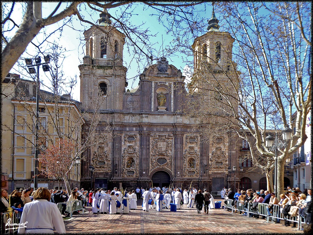
[(227, 138), (219, 136), (213, 138), (212, 152), (210, 153), (209, 171), (210, 174), (214, 172), (228, 172), (228, 147)]

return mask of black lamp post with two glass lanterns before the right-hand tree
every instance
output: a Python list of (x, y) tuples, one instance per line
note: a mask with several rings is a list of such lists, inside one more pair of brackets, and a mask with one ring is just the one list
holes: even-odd
[[(277, 156), (277, 152), (278, 149), (280, 150), (284, 150), (288, 144), (287, 141), (289, 141), (291, 139), (291, 133), (292, 130), (286, 126), (284, 130), (281, 131), (281, 134), (283, 136), (283, 140), (278, 140), (278, 134), (276, 132), (275, 137), (268, 135), (265, 138), (265, 145), (267, 148), (269, 148), (269, 151), (274, 152), (275, 154), (275, 170), (274, 170), (274, 193), (275, 196), (277, 197), (277, 166), (278, 166), (278, 156)], [(273, 144), (275, 140), (275, 144)]]

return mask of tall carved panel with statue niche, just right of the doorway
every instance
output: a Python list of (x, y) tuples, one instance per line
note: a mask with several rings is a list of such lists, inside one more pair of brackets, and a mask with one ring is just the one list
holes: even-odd
[(184, 135), (183, 177), (199, 177), (200, 169), (200, 136)]

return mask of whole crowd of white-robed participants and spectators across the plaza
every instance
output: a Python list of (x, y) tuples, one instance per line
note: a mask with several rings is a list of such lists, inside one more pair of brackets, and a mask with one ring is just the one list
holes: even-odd
[[(273, 215), (274, 205), (280, 206), (280, 212), (285, 215), (285, 226), (290, 226), (290, 222), (287, 220), (290, 216), (302, 216), (305, 217), (305, 223), (311, 224), (311, 189), (300, 191), (299, 188), (286, 188), (283, 194), (280, 194), (279, 198), (276, 198), (274, 193), (264, 190), (252, 190), (248, 189), (233, 191), (231, 188), (224, 188), (221, 191), (221, 197), (224, 199), (225, 205), (229, 203), (228, 199), (232, 199), (231, 203), (234, 206), (234, 212), (237, 213), (236, 201), (240, 201), (244, 205), (246, 212), (243, 212), (244, 216), (247, 216), (248, 206), (250, 205), (257, 213), (251, 213), (250, 217), (264, 219), (264, 214), (259, 215), (261, 203), (267, 203), (268, 216)], [(196, 207), (198, 213), (202, 212), (208, 214), (210, 208), (214, 208), (213, 196), (207, 189), (197, 190), (196, 188), (184, 189), (180, 187), (174, 187), (169, 189), (163, 187), (150, 187), (150, 188), (137, 188), (132, 191), (123, 191), (115, 187), (111, 190), (98, 189), (86, 191), (83, 188), (78, 190), (74, 188), (69, 196), (66, 190), (48, 190), (46, 188), (28, 188), (25, 190), (13, 190), (10, 195), (4, 189), (1, 190), (0, 211), (1, 213), (7, 212), (9, 208), (11, 211), (18, 214), (18, 220), (20, 223), (30, 220), (29, 225), (33, 228), (31, 232), (51, 232), (53, 227), (57, 231), (65, 231), (62, 215), (69, 216), (69, 212), (66, 211), (67, 201), (82, 201), (84, 208), (86, 206), (92, 206), (92, 212), (94, 214), (119, 214), (129, 213), (131, 210), (137, 208), (137, 200), (143, 199), (142, 210), (148, 212), (149, 209), (156, 209), (158, 212), (162, 212), (163, 209), (169, 209), (171, 202), (176, 205), (180, 210), (183, 205), (187, 205), (189, 208)], [(52, 203), (51, 203), (52, 202)], [(56, 206), (60, 203), (61, 213)], [(34, 206), (31, 206), (34, 205)], [(46, 211), (42, 212), (42, 209)], [(31, 213), (34, 210), (41, 211), (44, 216), (55, 217), (53, 224), (44, 223), (45, 227), (35, 224), (34, 219), (40, 220), (41, 214), (36, 217), (31, 217)], [(229, 209), (228, 209), (229, 210)], [(72, 212), (73, 214), (80, 211)], [(242, 210), (238, 212), (241, 214)], [(274, 215), (274, 217), (277, 217)], [(29, 222), (29, 221), (28, 221)], [(57, 223), (56, 225), (54, 223)], [(275, 223), (280, 223), (277, 218)], [(62, 225), (63, 224), (63, 225)], [(294, 223), (295, 226), (295, 223)], [(64, 230), (63, 230), (64, 229)], [(23, 228), (19, 231), (25, 231)], [(28, 231), (29, 232), (29, 231)]]

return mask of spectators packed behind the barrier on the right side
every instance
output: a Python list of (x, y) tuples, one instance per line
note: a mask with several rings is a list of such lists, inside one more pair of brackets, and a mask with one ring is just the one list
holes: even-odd
[[(222, 190), (224, 191), (224, 190)], [(284, 215), (285, 226), (290, 226), (290, 217), (300, 216), (305, 217), (305, 223), (311, 224), (311, 214), (312, 214), (312, 204), (311, 204), (311, 189), (305, 189), (303, 192), (299, 188), (290, 188), (288, 186), (284, 189), (284, 193), (279, 195), (279, 198), (275, 196), (275, 193), (264, 190), (253, 190), (248, 189), (246, 191), (238, 189), (237, 192), (233, 191), (231, 188), (226, 189), (221, 196), (224, 198), (225, 205), (228, 203), (228, 199), (232, 199), (232, 206), (235, 207), (234, 212), (237, 213), (235, 201), (240, 201), (244, 205), (246, 212), (242, 215), (247, 216), (248, 205), (251, 209), (254, 209), (256, 213), (251, 213), (250, 217), (255, 217), (256, 219), (265, 219), (264, 215), (259, 215), (260, 206), (262, 203), (268, 204), (267, 206), (267, 216), (278, 217), (278, 215), (273, 215), (274, 205), (280, 206), (280, 211)], [(227, 209), (230, 211), (230, 209)], [(242, 212), (239, 211), (241, 214)], [(275, 223), (280, 223), (280, 219), (277, 218)], [(296, 226), (294, 222), (293, 226)]]

